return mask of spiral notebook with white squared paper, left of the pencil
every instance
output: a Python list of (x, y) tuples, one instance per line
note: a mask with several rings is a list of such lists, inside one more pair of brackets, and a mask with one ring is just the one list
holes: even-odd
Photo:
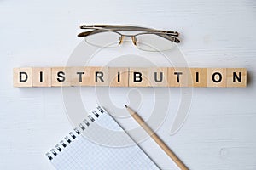
[[(96, 144), (84, 138), (82, 133), (88, 131), (97, 133), (96, 135), (99, 137), (104, 135), (104, 138), (111, 140), (106, 133), (101, 134), (95, 130), (94, 124), (123, 131), (123, 128), (107, 111), (100, 106), (97, 107), (79, 124), (79, 127), (74, 128), (73, 132), (61, 140), (60, 144), (56, 144), (54, 149), (46, 153), (56, 169), (160, 169), (137, 144), (111, 147)], [(131, 139), (128, 134), (127, 138)], [(131, 139), (131, 141), (133, 140)]]

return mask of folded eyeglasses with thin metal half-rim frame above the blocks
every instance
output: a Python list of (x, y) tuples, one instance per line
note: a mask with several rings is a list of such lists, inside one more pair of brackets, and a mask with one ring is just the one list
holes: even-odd
[[(145, 51), (165, 51), (173, 47), (174, 42), (180, 42), (177, 31), (161, 31), (140, 26), (114, 26), (114, 25), (84, 25), (84, 31), (78, 37), (85, 37), (85, 41), (96, 47), (117, 47), (124, 42), (125, 37), (131, 37), (133, 44)], [(141, 31), (127, 35), (119, 31)]]

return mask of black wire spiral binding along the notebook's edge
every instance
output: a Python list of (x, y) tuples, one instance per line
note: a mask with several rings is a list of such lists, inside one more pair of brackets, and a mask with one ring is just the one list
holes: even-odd
[[(101, 114), (105, 112), (101, 106), (97, 106), (96, 109)], [(101, 116), (100, 114), (98, 114), (97, 111), (92, 111), (92, 114), (87, 116), (87, 118), (85, 118), (83, 122), (79, 123), (79, 127), (75, 127), (73, 129), (73, 132), (70, 132), (69, 135), (61, 140), (60, 144), (55, 145), (55, 149), (51, 149), (45, 154), (50, 161), (53, 160), (54, 157), (57, 156), (59, 153), (61, 153), (61, 151), (64, 150), (68, 146), (68, 144), (72, 143), (73, 140), (76, 139), (81, 134), (81, 132), (85, 130), (85, 127), (89, 127), (90, 123), (95, 122), (95, 117), (98, 118)]]

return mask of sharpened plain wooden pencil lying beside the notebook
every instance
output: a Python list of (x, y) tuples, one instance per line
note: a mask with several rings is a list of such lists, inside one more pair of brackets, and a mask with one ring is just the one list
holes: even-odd
[(174, 154), (174, 152), (154, 133), (154, 131), (148, 127), (146, 122), (143, 121), (142, 117), (138, 116), (135, 111), (132, 111), (130, 107), (125, 105), (127, 111), (131, 114), (131, 116), (135, 119), (135, 121), (143, 127), (143, 129), (148, 133), (148, 135), (151, 136), (152, 139), (154, 139), (154, 142), (160, 146), (162, 150), (164, 150), (169, 156), (172, 161), (174, 161), (177, 164), (177, 167), (181, 168), (182, 170), (188, 170), (188, 167), (186, 167), (183, 162)]

